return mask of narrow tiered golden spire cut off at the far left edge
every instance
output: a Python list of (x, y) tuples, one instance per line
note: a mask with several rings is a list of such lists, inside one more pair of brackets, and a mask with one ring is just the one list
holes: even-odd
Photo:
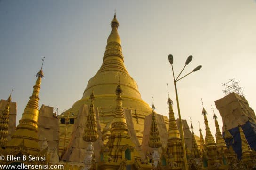
[(12, 102), (11, 95), (12, 95), (12, 93), (8, 97), (7, 104), (5, 106), (4, 111), (2, 112), (1, 117), (0, 117), (0, 147), (5, 147), (6, 143), (7, 143), (9, 112), (10, 112), (10, 104)]

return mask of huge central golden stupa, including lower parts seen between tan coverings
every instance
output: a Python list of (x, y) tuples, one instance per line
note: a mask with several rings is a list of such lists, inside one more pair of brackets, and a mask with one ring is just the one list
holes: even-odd
[[(64, 112), (64, 117), (68, 117), (68, 112), (74, 113), (76, 121), (80, 108), (86, 104), (90, 105), (90, 94), (94, 89), (94, 106), (99, 110), (99, 118), (101, 127), (108, 129), (108, 124), (113, 119), (115, 108), (115, 89), (118, 77), (120, 77), (121, 86), (123, 88), (123, 108), (130, 109), (135, 124), (136, 137), (140, 144), (143, 139), (144, 119), (145, 116), (151, 114), (150, 106), (142, 100), (138, 90), (136, 81), (129, 75), (125, 65), (124, 56), (122, 54), (121, 39), (118, 33), (119, 21), (116, 14), (111, 21), (111, 33), (107, 39), (107, 45), (103, 56), (103, 62), (96, 75), (93, 76), (85, 88), (82, 98), (76, 101), (72, 108)], [(69, 124), (68, 133), (65, 139), (65, 124), (60, 123), (60, 141), (59, 149), (63, 150), (64, 141), (69, 142), (73, 124)], [(109, 133), (108, 133), (109, 135)]]

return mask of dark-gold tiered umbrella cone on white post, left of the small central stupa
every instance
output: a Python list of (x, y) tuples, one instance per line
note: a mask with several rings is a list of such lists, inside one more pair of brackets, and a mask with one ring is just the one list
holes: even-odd
[(95, 99), (95, 97), (94, 97), (93, 91), (90, 96), (90, 99), (91, 99), (91, 105), (89, 108), (89, 114), (87, 116), (87, 122), (84, 130), (83, 139), (87, 142), (95, 142), (96, 140), (99, 139), (99, 134), (98, 134), (98, 128), (97, 128), (96, 115), (94, 113), (93, 100)]

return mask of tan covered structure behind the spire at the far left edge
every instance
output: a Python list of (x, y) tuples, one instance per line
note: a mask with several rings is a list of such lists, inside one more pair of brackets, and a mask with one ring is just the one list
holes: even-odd
[[(2, 111), (5, 109), (7, 105), (6, 100), (0, 101), (0, 116), (2, 115)], [(11, 140), (11, 135), (15, 131), (16, 128), (16, 116), (17, 116), (17, 103), (11, 102), (10, 104), (10, 112), (9, 112), (9, 124), (8, 124), (8, 136), (7, 141)]]

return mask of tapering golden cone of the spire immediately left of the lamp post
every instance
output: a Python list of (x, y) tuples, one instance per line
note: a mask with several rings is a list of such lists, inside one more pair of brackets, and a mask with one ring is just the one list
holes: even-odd
[(169, 129), (168, 129), (168, 139), (180, 139), (180, 131), (178, 130), (176, 120), (174, 117), (174, 112), (173, 112), (173, 102), (168, 98), (168, 106), (169, 106)]

